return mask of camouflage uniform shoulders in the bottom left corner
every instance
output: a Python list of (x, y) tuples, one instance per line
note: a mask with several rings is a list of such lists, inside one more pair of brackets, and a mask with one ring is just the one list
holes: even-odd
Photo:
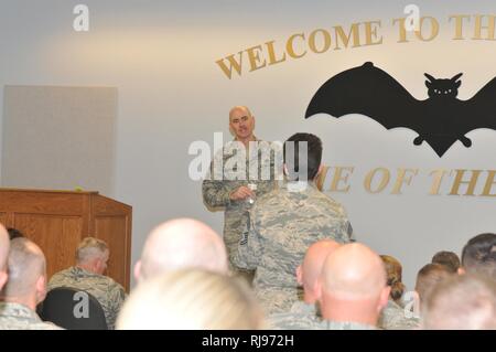
[(35, 311), (11, 302), (0, 302), (0, 330), (63, 330), (51, 323), (43, 322)]

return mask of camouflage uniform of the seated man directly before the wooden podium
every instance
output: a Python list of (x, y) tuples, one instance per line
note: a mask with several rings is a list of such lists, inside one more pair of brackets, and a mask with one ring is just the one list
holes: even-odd
[(122, 286), (108, 276), (94, 274), (79, 267), (71, 267), (52, 276), (48, 290), (58, 287), (69, 287), (83, 290), (94, 296), (105, 311), (108, 329), (116, 326), (126, 292)]

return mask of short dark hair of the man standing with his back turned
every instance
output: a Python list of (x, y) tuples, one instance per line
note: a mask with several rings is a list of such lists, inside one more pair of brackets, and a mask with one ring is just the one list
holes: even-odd
[[(308, 154), (303, 157), (306, 157), (306, 160), (300, 160), (300, 143), (304, 142), (306, 142)], [(294, 150), (293, 156), (291, 153), (287, 156), (289, 150)], [(306, 168), (308, 180), (313, 181), (322, 161), (322, 141), (311, 134), (295, 134), (284, 142), (283, 158), (290, 173), (288, 174), (290, 181), (304, 181), (299, 180), (298, 177), (300, 170), (304, 168)]]

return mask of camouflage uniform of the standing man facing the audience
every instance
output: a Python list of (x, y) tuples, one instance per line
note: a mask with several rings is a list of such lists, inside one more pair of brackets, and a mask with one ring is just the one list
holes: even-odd
[[(244, 170), (229, 170), (229, 168), (225, 168), (226, 170), (223, 170), (224, 168), (215, 169), (214, 163), (226, 167), (226, 163), (228, 164), (229, 160), (236, 156), (236, 152), (233, 150), (235, 146), (234, 141), (227, 143), (222, 151), (216, 153), (215, 160), (211, 166), (211, 173), (203, 181), (202, 193), (206, 205), (209, 207), (225, 209), (224, 243), (226, 244), (231, 268), (236, 268), (236, 266), (233, 266), (233, 257), (237, 253), (238, 243), (248, 218), (248, 210), (251, 209), (252, 204), (250, 204), (248, 200), (231, 201), (229, 194), (241, 185), (246, 186), (249, 183), (255, 183), (257, 185), (255, 193), (258, 199), (262, 194), (273, 190), (276, 186), (276, 182), (273, 181), (274, 158), (269, 151), (271, 148), (277, 149), (277, 145), (263, 142), (258, 139), (257, 141), (259, 142), (259, 151), (256, 154), (250, 154), (247, 151), (246, 164), (240, 166), (240, 168), (245, 168)], [(266, 158), (265, 156), (269, 157)], [(258, 160), (257, 174), (249, 172), (250, 160), (251, 162)], [(270, 170), (270, 173), (265, 178), (268, 180), (262, 179), (262, 169)], [(212, 178), (212, 175), (214, 175), (214, 178)], [(236, 180), (236, 175), (239, 175), (241, 180)], [(250, 180), (250, 178), (256, 178), (256, 180)]]

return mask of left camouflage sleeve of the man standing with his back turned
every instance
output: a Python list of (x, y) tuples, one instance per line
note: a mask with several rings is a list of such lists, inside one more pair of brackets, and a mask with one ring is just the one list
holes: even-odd
[(261, 237), (258, 233), (252, 213), (248, 213), (248, 221), (242, 231), (242, 237), (238, 245), (238, 253), (234, 257), (234, 264), (248, 270), (255, 270), (262, 255)]

